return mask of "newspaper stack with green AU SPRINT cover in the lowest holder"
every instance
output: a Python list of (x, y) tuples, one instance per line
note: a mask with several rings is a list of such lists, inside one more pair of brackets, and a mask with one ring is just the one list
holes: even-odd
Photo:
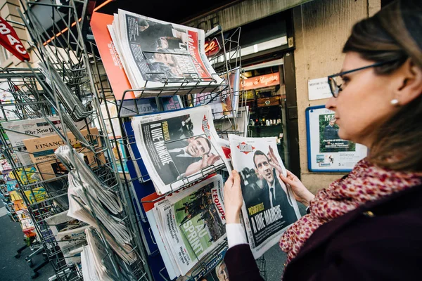
[(181, 275), (226, 237), (222, 176), (213, 176), (157, 204), (160, 223)]

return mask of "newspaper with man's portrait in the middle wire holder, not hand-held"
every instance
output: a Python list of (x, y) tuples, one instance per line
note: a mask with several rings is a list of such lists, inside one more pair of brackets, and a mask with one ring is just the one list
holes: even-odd
[(134, 117), (132, 126), (158, 194), (224, 167), (209, 106)]

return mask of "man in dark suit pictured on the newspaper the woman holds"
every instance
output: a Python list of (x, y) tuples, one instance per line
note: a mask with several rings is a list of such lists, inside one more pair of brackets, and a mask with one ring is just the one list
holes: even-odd
[(286, 185), (282, 186), (280, 183), (278, 175), (282, 172), (282, 169), (272, 148), (269, 148), (268, 156), (261, 150), (255, 151), (253, 162), (257, 174), (263, 181), (261, 200), (264, 203), (264, 208), (267, 210), (280, 205), (281, 215), (286, 220), (287, 225), (297, 221), (298, 218), (293, 203), (288, 196)]

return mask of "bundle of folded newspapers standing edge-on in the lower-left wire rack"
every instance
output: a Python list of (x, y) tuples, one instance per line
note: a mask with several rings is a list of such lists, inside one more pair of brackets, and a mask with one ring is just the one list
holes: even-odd
[[(120, 218), (123, 210), (120, 198), (89, 169), (82, 153), (77, 153), (68, 146), (60, 146), (55, 154), (61, 163), (71, 168), (68, 173), (67, 215), (92, 226), (90, 229), (93, 231), (100, 231), (110, 249), (125, 263), (136, 261), (137, 256), (132, 251), (132, 233)], [(100, 247), (98, 243), (94, 244)], [(103, 252), (95, 250), (91, 254), (94, 254), (95, 259), (104, 259), (106, 256)], [(98, 268), (96, 270), (101, 277), (102, 273), (98, 272)]]

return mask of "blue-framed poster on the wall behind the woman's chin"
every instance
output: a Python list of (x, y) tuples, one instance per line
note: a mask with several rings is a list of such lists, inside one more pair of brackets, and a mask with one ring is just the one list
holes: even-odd
[(366, 157), (364, 145), (342, 140), (338, 136), (334, 112), (324, 105), (307, 107), (307, 159), (312, 172), (348, 172)]

